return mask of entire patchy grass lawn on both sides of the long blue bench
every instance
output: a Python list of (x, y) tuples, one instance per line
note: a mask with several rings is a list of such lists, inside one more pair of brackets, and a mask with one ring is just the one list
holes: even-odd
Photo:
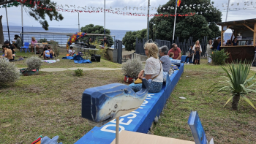
[[(24, 56), (24, 53), (18, 53), (20, 55)], [(43, 67), (83, 67), (83, 64), (69, 61), (61, 59), (59, 63), (43, 64)], [(209, 94), (208, 87), (221, 80), (214, 77), (225, 73), (220, 67), (206, 64), (205, 59), (201, 63), (185, 66), (159, 123), (151, 132), (193, 140), (187, 120), (190, 110), (197, 110), (208, 140), (214, 137), (216, 143), (255, 143), (256, 110), (244, 99), (239, 102), (237, 111), (231, 110), (231, 103), (223, 107), (230, 95)], [(26, 67), (24, 61), (15, 61), (15, 64)], [(84, 67), (116, 68), (121, 65), (102, 60), (84, 64)], [(93, 126), (80, 117), (83, 91), (109, 83), (122, 83), (124, 76), (121, 70), (86, 71), (83, 77), (73, 74), (71, 70), (39, 72), (39, 75), (21, 76), (12, 86), (0, 88), (0, 143), (32, 143), (39, 135), (50, 138), (59, 135), (59, 142), (75, 143), (89, 132)], [(187, 99), (179, 99), (180, 96)], [(256, 105), (255, 95), (247, 97)]]

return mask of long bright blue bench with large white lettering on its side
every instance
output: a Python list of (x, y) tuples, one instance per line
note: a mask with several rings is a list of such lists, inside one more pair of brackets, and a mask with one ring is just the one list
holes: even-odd
[[(159, 93), (148, 93), (143, 104), (134, 112), (120, 117), (119, 131), (127, 130), (131, 132), (146, 133), (154, 122), (154, 118), (159, 116), (171, 92), (175, 88), (178, 80), (184, 72), (184, 64), (181, 63), (179, 71), (175, 71), (170, 76), (167, 86), (163, 86)], [(104, 126), (95, 126), (91, 131), (80, 138), (75, 144), (104, 144), (111, 143), (116, 137), (116, 119), (108, 122)]]

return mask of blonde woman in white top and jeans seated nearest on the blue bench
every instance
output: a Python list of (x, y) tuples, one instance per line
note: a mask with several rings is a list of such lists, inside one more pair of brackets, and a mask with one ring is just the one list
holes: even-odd
[[(163, 69), (162, 64), (158, 58), (158, 47), (154, 43), (146, 43), (144, 45), (144, 50), (148, 59), (146, 60), (145, 69), (141, 70), (138, 77), (140, 79), (146, 78), (151, 79), (151, 85), (149, 86), (149, 93), (158, 93), (161, 91), (163, 82)], [(143, 77), (145, 74), (145, 77)], [(129, 85), (135, 92), (140, 91), (142, 83)]]

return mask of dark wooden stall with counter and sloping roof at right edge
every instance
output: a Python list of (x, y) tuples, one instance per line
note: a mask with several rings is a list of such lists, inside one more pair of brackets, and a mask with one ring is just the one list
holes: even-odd
[[(234, 60), (249, 60), (253, 61), (255, 56), (255, 44), (256, 44), (256, 18), (249, 20), (236, 20), (217, 23), (217, 25), (222, 26), (221, 33), (221, 49), (225, 48), (225, 51), (230, 53), (230, 58), (227, 59), (227, 63), (231, 63)], [(239, 45), (236, 46), (224, 46), (223, 45), (223, 34), (227, 29), (233, 31), (230, 40), (234, 37), (240, 37), (241, 41)], [(249, 39), (252, 39), (253, 45), (245, 45)]]

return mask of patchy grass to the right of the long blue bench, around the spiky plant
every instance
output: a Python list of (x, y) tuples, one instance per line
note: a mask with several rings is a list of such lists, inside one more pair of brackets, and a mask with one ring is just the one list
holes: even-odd
[[(240, 99), (238, 110), (231, 109), (227, 93), (209, 94), (208, 88), (225, 75), (221, 67), (206, 64), (185, 65), (175, 90), (167, 102), (167, 107), (154, 125), (152, 134), (173, 137), (181, 140), (193, 140), (187, 124), (190, 110), (197, 110), (208, 140), (214, 138), (215, 143), (255, 143), (256, 142), (256, 110), (244, 99)], [(203, 64), (204, 63), (204, 64)], [(250, 73), (252, 76), (254, 72)], [(179, 97), (187, 99), (179, 99)], [(255, 94), (247, 96), (256, 106)]]

